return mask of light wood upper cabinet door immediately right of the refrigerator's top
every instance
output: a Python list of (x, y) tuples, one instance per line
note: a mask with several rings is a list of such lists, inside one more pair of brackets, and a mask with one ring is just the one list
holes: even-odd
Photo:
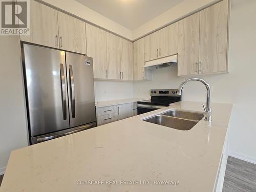
[(107, 79), (106, 32), (86, 24), (87, 55), (93, 58), (94, 78)]

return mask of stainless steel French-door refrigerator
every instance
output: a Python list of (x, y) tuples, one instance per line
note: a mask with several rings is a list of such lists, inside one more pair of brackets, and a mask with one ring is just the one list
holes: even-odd
[(96, 126), (93, 61), (22, 45), (30, 144)]

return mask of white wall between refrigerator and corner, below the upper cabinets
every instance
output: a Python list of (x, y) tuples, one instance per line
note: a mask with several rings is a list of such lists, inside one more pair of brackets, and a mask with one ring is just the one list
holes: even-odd
[(133, 98), (133, 82), (94, 81), (95, 101)]

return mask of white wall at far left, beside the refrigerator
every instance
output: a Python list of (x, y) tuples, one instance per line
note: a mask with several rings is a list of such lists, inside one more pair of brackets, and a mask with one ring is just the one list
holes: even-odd
[(0, 175), (10, 152), (28, 145), (19, 37), (0, 36)]

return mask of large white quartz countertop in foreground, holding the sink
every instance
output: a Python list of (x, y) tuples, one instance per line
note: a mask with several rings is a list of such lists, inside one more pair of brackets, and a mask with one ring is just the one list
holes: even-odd
[(189, 131), (141, 120), (170, 109), (203, 110), (181, 101), (12, 151), (0, 191), (213, 191), (232, 104), (212, 103), (210, 127), (202, 119)]

